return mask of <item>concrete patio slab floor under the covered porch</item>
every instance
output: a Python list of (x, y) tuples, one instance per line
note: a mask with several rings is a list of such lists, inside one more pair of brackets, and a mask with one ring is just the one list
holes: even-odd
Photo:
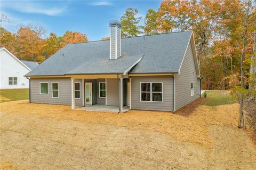
[[(119, 112), (119, 107), (118, 106), (106, 106), (103, 104), (94, 104), (92, 106), (85, 106), (81, 108), (77, 108), (76, 110), (89, 110), (89, 111), (109, 111), (109, 112)], [(129, 111), (130, 107), (129, 106), (124, 106), (123, 107), (123, 112)]]

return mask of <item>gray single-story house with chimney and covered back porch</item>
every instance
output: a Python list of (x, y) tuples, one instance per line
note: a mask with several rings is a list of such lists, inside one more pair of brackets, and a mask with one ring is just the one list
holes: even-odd
[(30, 102), (174, 112), (199, 98), (192, 31), (121, 38), (109, 25), (110, 40), (68, 44), (31, 70)]

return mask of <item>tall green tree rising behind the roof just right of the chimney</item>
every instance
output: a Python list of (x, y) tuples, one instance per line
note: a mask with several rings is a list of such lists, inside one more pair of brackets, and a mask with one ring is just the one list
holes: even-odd
[(142, 33), (141, 29), (143, 26), (138, 26), (142, 17), (136, 17), (138, 14), (137, 9), (128, 8), (125, 13), (121, 17), (121, 36), (125, 37), (133, 37), (138, 36)]

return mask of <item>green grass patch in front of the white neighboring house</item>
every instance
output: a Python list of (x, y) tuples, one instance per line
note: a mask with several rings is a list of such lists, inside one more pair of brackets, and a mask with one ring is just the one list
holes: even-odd
[(8, 89), (0, 90), (0, 102), (29, 99), (29, 89)]

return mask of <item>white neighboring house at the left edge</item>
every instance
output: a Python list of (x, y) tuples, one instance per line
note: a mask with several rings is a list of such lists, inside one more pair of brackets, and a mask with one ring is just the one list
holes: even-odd
[(24, 76), (38, 66), (34, 61), (19, 60), (4, 47), (0, 47), (0, 64), (0, 89), (28, 88), (29, 80)]

